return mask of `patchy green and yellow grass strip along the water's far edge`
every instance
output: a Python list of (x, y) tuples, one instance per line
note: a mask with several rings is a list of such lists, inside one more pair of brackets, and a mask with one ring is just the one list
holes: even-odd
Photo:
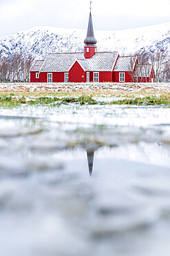
[[(95, 100), (94, 100), (95, 97)], [(98, 98), (100, 97), (100, 98)], [(116, 97), (116, 100), (106, 101)], [(120, 99), (119, 99), (120, 98)], [(103, 100), (102, 100), (103, 99)], [(129, 93), (123, 91), (76, 91), (76, 92), (39, 92), (39, 93), (0, 93), (0, 107), (17, 107), (21, 104), (60, 106), (61, 104), (124, 104), (124, 105), (164, 105), (170, 107), (170, 93)]]

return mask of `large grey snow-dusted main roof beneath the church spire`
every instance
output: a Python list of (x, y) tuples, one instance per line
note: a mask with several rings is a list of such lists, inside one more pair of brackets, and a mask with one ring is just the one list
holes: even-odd
[(41, 72), (68, 72), (76, 60), (85, 71), (112, 71), (117, 57), (117, 52), (95, 53), (90, 59), (85, 59), (84, 53), (49, 53)]

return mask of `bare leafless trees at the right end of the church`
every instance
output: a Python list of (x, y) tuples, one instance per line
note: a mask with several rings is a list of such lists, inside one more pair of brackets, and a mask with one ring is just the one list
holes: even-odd
[[(147, 77), (149, 72), (148, 64), (151, 64), (155, 73), (155, 82), (170, 82), (170, 54), (165, 48), (156, 48), (147, 51), (143, 48), (140, 51), (132, 54), (138, 57), (138, 68), (131, 74), (132, 80), (135, 82), (136, 77)], [(129, 64), (131, 70), (133, 69), (134, 62), (131, 59)]]

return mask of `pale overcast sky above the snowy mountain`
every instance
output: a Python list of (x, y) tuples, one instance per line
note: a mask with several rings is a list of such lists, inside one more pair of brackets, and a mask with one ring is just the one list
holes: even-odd
[[(170, 0), (92, 0), (94, 29), (120, 30), (170, 21)], [(0, 0), (0, 37), (34, 26), (87, 28), (89, 0)]]

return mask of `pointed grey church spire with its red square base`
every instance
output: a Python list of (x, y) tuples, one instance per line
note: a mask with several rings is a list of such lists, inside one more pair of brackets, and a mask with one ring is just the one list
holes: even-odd
[(93, 57), (96, 53), (96, 38), (94, 37), (94, 28), (92, 22), (92, 1), (90, 1), (89, 24), (87, 28), (87, 37), (85, 38), (84, 55), (85, 59)]

